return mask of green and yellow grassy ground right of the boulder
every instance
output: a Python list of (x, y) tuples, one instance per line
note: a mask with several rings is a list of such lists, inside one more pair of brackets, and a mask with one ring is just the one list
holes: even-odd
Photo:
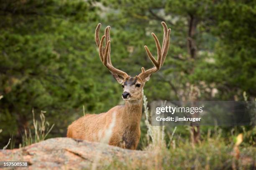
[(151, 150), (152, 154), (155, 154), (153, 160), (148, 161), (146, 166), (141, 165), (135, 161), (120, 162), (115, 160), (104, 169), (166, 169), (166, 170), (183, 170), (183, 169), (195, 169), (195, 170), (229, 170), (229, 169), (241, 169), (248, 170), (255, 167), (255, 147), (238, 147), (239, 154), (236, 154), (233, 145), (227, 145), (223, 140), (217, 138), (210, 138), (206, 141), (192, 147), (191, 143), (177, 143), (171, 148), (154, 148)]

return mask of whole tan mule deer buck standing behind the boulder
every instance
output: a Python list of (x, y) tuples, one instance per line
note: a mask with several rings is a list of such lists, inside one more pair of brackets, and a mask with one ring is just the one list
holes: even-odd
[[(99, 132), (104, 132), (108, 129), (111, 122), (113, 122), (114, 115), (115, 125), (113, 126), (108, 144), (126, 149), (136, 149), (141, 137), (140, 120), (142, 115), (143, 87), (150, 76), (164, 64), (169, 49), (171, 29), (168, 29), (164, 22), (161, 24), (164, 28), (162, 47), (156, 35), (152, 33), (156, 42), (157, 60), (148, 50), (148, 47), (144, 46), (154, 67), (148, 70), (142, 67), (141, 73), (135, 77), (129, 76), (112, 65), (110, 60), (110, 26), (105, 28), (105, 35), (100, 40), (99, 31), (101, 24), (97, 25), (95, 41), (99, 47), (100, 60), (108, 68), (115, 80), (122, 85), (122, 98), (125, 100), (125, 104), (115, 106), (105, 113), (98, 115), (88, 114), (80, 117), (69, 125), (67, 130), (68, 138), (100, 142), (104, 135), (99, 135)], [(104, 40), (105, 47), (103, 47)]]

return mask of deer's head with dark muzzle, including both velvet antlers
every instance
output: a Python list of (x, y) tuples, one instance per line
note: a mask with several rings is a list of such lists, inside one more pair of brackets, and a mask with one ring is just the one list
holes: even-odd
[[(102, 36), (101, 40), (99, 37), (100, 26), (101, 24), (99, 23), (95, 30), (95, 41), (97, 46), (99, 47), (99, 55), (100, 55), (101, 62), (103, 63), (103, 65), (105, 65), (105, 67), (108, 68), (108, 70), (111, 72), (115, 80), (117, 80), (117, 82), (119, 82), (122, 85), (123, 100), (129, 100), (129, 101), (141, 100), (143, 95), (143, 87), (145, 83), (149, 80), (151, 75), (154, 72), (157, 72), (161, 68), (161, 66), (164, 64), (164, 61), (169, 49), (171, 29), (170, 28), (168, 29), (167, 25), (164, 22), (162, 22), (162, 26), (164, 28), (164, 38), (163, 38), (162, 47), (160, 46), (159, 40), (156, 37), (156, 35), (153, 32), (151, 33), (151, 35), (154, 37), (154, 40), (156, 42), (157, 60), (151, 54), (148, 47), (146, 45), (144, 47), (146, 49), (148, 57), (153, 62), (154, 67), (148, 70), (145, 70), (144, 67), (142, 67), (141, 73), (139, 75), (136, 75), (135, 77), (131, 77), (125, 72), (118, 70), (112, 65), (112, 62), (110, 59), (110, 26), (105, 28), (105, 35)], [(105, 47), (103, 47), (104, 40), (105, 40)]]

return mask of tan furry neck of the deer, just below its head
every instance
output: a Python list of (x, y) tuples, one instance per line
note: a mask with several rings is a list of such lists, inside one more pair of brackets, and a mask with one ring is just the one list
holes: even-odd
[(122, 117), (125, 121), (124, 124), (132, 129), (138, 128), (142, 115), (142, 98), (135, 101), (125, 101), (123, 109)]

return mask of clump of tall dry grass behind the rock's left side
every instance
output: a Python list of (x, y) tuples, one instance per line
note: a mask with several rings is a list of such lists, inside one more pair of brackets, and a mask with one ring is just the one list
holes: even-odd
[[(25, 129), (25, 133), (22, 136), (22, 146), (31, 145), (33, 143), (38, 143), (42, 140), (45, 140), (47, 135), (51, 132), (54, 124), (50, 126), (49, 122), (45, 119), (45, 111), (41, 110), (40, 112), (40, 121), (36, 120), (34, 110), (33, 114), (33, 130), (30, 128)], [(33, 132), (32, 132), (33, 131)]]

